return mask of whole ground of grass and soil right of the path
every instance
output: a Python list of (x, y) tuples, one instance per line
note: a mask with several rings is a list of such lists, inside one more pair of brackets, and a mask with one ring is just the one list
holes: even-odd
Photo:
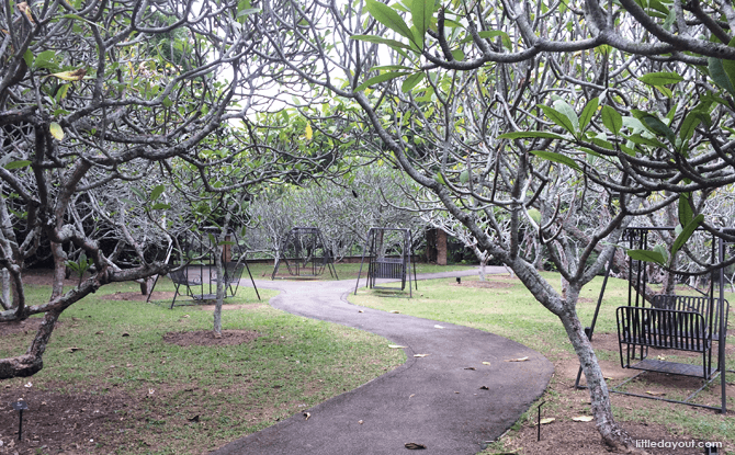
[[(544, 272), (543, 275), (552, 283), (559, 282), (555, 273)], [(586, 325), (592, 319), (601, 281), (601, 277), (597, 277), (581, 291), (577, 309), (579, 318)], [(683, 288), (679, 291), (687, 292)], [(733, 300), (732, 294), (726, 297)], [(627, 283), (611, 278), (592, 337), (592, 345), (611, 387), (637, 373), (620, 367), (614, 311), (618, 306), (626, 305), (626, 299)], [(574, 388), (579, 361), (564, 328), (553, 315), (534, 302), (519, 280), (508, 274), (488, 275), (485, 283), (475, 277), (463, 277), (461, 283), (455, 278), (442, 278), (421, 282), (420, 291), (412, 299), (402, 298), (392, 292), (361, 289), (357, 296), (350, 295), (349, 300), (381, 310), (395, 310), (487, 330), (528, 345), (554, 363), (555, 374), (545, 395), (519, 419), (511, 431), (500, 441), (490, 444), (484, 454), (558, 454), (561, 447), (565, 447), (564, 453), (609, 453), (600, 442), (595, 421), (572, 420), (581, 416), (591, 417), (589, 393)], [(735, 369), (734, 353), (735, 343), (730, 339), (726, 346), (727, 369)], [(701, 362), (699, 355), (680, 351), (649, 351), (649, 357), (659, 355), (675, 362)], [(735, 386), (732, 385), (735, 379), (732, 373), (728, 374), (727, 382), (727, 407), (731, 409), (727, 416), (685, 405), (611, 394), (613, 412), (634, 440), (723, 442), (724, 453), (735, 453), (735, 421), (732, 411), (735, 409)], [(581, 383), (585, 383), (584, 377)], [(681, 400), (700, 386), (701, 380), (696, 378), (646, 373), (624, 389)], [(542, 426), (542, 441), (536, 442), (536, 407), (544, 401), (542, 417), (555, 420)], [(700, 394), (696, 402), (719, 406), (719, 379)], [(699, 448), (668, 448), (660, 452), (655, 448), (647, 450), (663, 454), (703, 452)]]

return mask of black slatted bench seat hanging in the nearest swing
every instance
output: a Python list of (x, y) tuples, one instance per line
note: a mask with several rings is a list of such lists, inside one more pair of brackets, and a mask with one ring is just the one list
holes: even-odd
[[(720, 340), (720, 300), (708, 296), (656, 295), (651, 305), (618, 307), (621, 365), (709, 380), (716, 371), (712, 367), (712, 350), (713, 341)], [(730, 304), (724, 300), (725, 328), (728, 311)], [(701, 353), (702, 365), (647, 359), (648, 348)], [(636, 352), (640, 362), (632, 364)]]

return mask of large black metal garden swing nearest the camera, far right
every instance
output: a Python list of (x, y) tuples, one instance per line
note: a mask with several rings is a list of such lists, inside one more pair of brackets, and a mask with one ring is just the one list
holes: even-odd
[[(631, 227), (623, 232), (623, 241), (626, 240), (631, 249), (647, 250), (648, 234), (665, 230), (674, 231), (675, 228)], [(698, 230), (696, 234), (705, 235), (703, 230)], [(710, 263), (723, 262), (726, 243), (722, 239), (716, 239), (715, 236), (711, 237), (709, 243), (711, 244)], [(716, 248), (717, 251), (715, 251), (715, 247), (719, 247)], [(585, 329), (590, 341), (592, 340), (595, 323), (611, 266), (612, 258), (606, 271), (592, 325)], [(706, 292), (694, 288), (700, 295), (646, 295), (646, 284), (649, 282), (653, 268), (652, 263), (629, 258), (627, 305), (618, 307), (615, 310), (618, 345), (621, 366), (623, 368), (641, 369), (641, 373), (611, 388), (610, 391), (685, 403), (725, 413), (727, 399), (725, 389), (725, 341), (730, 303), (724, 298), (724, 269), (721, 268), (710, 274)], [(715, 289), (715, 285), (717, 289)], [(670, 362), (660, 357), (648, 359), (648, 349), (694, 352), (701, 354), (701, 364)], [(716, 357), (716, 363), (713, 363), (713, 355)], [(625, 384), (646, 372), (698, 377), (704, 384), (682, 401), (621, 390), (621, 387)], [(581, 367), (577, 374), (577, 387), (579, 387), (580, 376)], [(720, 376), (722, 389), (721, 407), (691, 402), (717, 376)]]

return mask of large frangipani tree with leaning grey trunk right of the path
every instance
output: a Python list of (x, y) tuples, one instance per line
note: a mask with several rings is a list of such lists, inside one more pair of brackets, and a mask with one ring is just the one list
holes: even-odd
[[(670, 249), (630, 252), (667, 266), (698, 226), (716, 231), (706, 201), (735, 179), (732, 5), (278, 7), (290, 13), (264, 14), (282, 31), (264, 34), (269, 53), (289, 75), (359, 105), (382, 149), (559, 318), (603, 441), (633, 448), (576, 302), (631, 223), (674, 207), (680, 231)], [(565, 295), (521, 254), (524, 223), (562, 273)]]

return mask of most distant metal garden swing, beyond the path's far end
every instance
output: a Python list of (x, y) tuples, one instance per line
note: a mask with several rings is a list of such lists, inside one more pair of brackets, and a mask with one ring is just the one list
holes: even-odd
[(284, 248), (275, 260), (271, 280), (275, 280), (282, 263), (292, 276), (319, 276), (327, 269), (331, 277), (339, 280), (331, 251), (316, 227), (295, 227), (289, 231)]

